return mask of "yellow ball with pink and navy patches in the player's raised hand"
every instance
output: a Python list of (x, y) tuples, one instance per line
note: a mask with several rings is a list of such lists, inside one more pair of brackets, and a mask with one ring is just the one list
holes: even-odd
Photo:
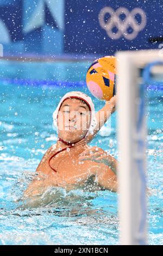
[(91, 94), (99, 100), (110, 100), (115, 95), (116, 57), (96, 59), (86, 74), (86, 84)]

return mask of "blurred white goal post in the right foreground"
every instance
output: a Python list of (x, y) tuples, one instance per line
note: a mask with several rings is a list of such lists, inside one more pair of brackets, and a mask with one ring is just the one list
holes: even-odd
[[(120, 51), (117, 58), (118, 215), (122, 245), (147, 244), (145, 84), (141, 69), (160, 50)], [(155, 72), (160, 69), (155, 69)], [(161, 69), (162, 71), (162, 69)]]

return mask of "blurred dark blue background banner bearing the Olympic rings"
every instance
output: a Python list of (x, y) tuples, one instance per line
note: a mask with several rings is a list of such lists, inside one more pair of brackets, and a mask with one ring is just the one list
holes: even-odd
[(161, 0), (0, 0), (0, 44), (4, 56), (158, 48), (162, 5)]

